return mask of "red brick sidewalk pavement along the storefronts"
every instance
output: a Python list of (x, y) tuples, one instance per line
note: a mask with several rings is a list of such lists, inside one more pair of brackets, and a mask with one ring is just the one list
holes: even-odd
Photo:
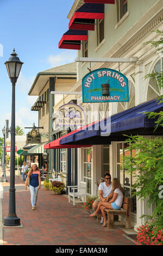
[[(7, 177), (9, 182), (9, 176)], [(9, 183), (8, 183), (9, 184)], [(5, 184), (6, 186), (7, 184)], [(22, 186), (22, 189), (20, 190)], [(16, 215), (23, 227), (3, 227), (3, 245), (134, 245), (122, 229), (102, 228), (81, 204), (73, 206), (63, 195), (41, 187), (37, 209), (32, 211), (30, 192), (15, 176)], [(3, 218), (8, 215), (9, 191), (3, 193)]]

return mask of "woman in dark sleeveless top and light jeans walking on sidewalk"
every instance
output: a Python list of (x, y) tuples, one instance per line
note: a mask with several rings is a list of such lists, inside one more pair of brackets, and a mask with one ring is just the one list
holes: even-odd
[(28, 179), (30, 179), (29, 190), (30, 190), (30, 196), (31, 196), (32, 210), (35, 210), (37, 195), (41, 186), (41, 175), (40, 175), (40, 170), (37, 167), (37, 164), (33, 164), (32, 168), (30, 168), (28, 172), (26, 185), (25, 185), (26, 190), (27, 190)]

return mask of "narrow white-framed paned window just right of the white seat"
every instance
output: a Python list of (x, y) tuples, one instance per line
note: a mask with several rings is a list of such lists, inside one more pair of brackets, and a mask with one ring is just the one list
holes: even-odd
[(87, 182), (87, 193), (91, 194), (91, 162), (92, 149), (84, 149), (84, 181)]

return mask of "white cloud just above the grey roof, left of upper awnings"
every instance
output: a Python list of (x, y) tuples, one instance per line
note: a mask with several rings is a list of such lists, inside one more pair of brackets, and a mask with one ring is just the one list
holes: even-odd
[(74, 62), (74, 58), (76, 58), (76, 51), (67, 50), (58, 55), (49, 55), (48, 63), (55, 67)]

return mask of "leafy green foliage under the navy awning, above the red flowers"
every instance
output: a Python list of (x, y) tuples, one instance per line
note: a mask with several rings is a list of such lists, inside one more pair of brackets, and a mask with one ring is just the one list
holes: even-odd
[[(124, 169), (133, 175), (135, 180), (133, 196), (147, 199), (148, 207), (154, 206), (151, 216), (144, 215), (147, 220), (155, 220), (156, 231), (163, 228), (163, 200), (159, 196), (159, 187), (163, 185), (163, 139), (130, 136), (127, 139), (127, 150), (133, 155), (124, 157)], [(135, 179), (136, 178), (136, 179)]]

